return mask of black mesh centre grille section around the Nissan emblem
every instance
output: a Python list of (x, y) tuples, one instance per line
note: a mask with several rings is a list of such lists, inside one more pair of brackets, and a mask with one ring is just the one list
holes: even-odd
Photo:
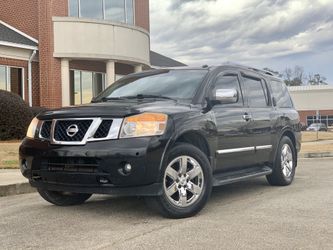
[[(54, 128), (54, 139), (56, 141), (80, 142), (86, 135), (93, 120), (58, 120)], [(77, 133), (73, 136), (68, 134), (68, 128), (76, 125)]]

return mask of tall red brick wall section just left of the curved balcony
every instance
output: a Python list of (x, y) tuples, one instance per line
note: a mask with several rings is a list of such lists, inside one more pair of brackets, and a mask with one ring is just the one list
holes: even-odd
[(67, 16), (67, 0), (40, 0), (39, 16), (39, 78), (40, 105), (48, 108), (62, 106), (61, 61), (53, 57), (53, 16)]

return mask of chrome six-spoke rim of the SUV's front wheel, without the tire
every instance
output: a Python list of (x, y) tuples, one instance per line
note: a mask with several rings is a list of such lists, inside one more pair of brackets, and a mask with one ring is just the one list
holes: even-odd
[(192, 157), (182, 155), (169, 163), (164, 174), (164, 192), (177, 207), (192, 205), (202, 193), (204, 174), (200, 164)]

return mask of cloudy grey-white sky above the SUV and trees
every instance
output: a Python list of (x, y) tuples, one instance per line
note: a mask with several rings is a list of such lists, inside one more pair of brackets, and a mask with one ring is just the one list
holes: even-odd
[(151, 49), (191, 66), (302, 66), (333, 84), (333, 0), (150, 0)]

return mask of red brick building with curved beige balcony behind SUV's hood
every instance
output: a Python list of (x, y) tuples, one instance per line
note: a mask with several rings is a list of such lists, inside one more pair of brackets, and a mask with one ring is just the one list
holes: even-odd
[(2, 0), (0, 89), (57, 108), (122, 75), (183, 65), (150, 51), (149, 30), (149, 0)]

